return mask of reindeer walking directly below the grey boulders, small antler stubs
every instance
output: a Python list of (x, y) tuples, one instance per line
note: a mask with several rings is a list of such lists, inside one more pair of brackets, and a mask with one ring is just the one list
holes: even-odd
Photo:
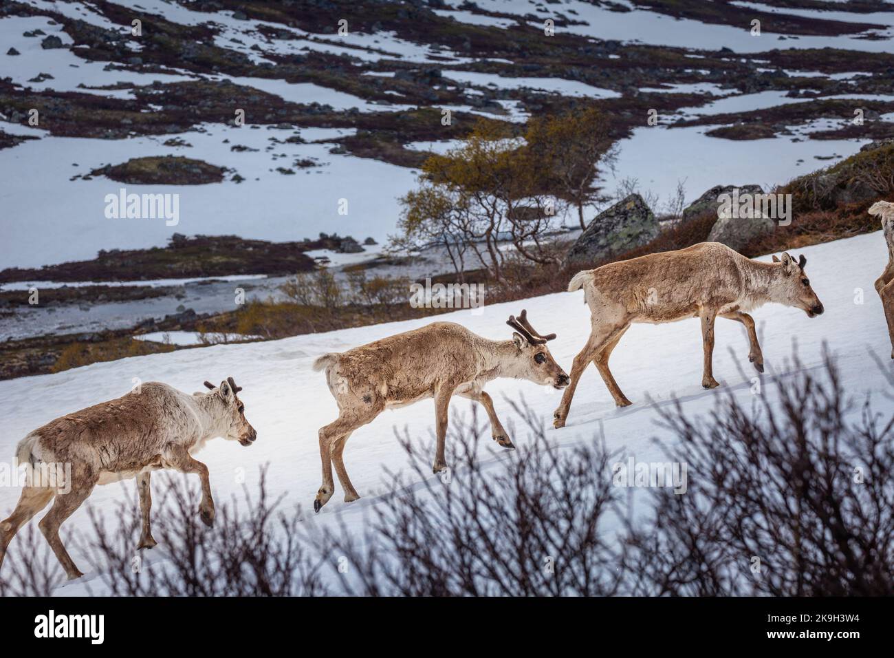
[(676, 252), (653, 253), (578, 272), (569, 292), (584, 288), (592, 330), (586, 346), (574, 358), (571, 381), (553, 414), (553, 424), (564, 427), (571, 398), (586, 364), (595, 363), (618, 406), (632, 404), (609, 370), (609, 356), (633, 322), (702, 320), (704, 373), (702, 386), (720, 384), (713, 377), (714, 320), (737, 320), (748, 332), (748, 359), (763, 372), (763, 353), (757, 342), (755, 320), (748, 311), (767, 302), (802, 309), (813, 318), (822, 303), (804, 273), (807, 260), (795, 261), (788, 253), (773, 262), (752, 261), (720, 243), (694, 244)]

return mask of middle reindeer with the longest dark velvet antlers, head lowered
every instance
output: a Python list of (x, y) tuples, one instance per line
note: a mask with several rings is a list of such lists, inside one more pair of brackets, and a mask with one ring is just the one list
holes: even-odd
[(333, 465), (342, 483), (345, 502), (360, 497), (344, 467), (344, 445), (351, 432), (371, 423), (387, 408), (434, 397), (437, 436), (434, 473), (447, 466), (444, 437), (447, 408), (454, 395), (468, 397), (484, 406), (493, 439), (504, 448), (515, 448), (493, 410), (493, 400), (482, 389), (485, 383), (497, 377), (512, 377), (562, 389), (569, 379), (546, 347), (546, 342), (555, 338), (555, 334), (538, 334), (527, 321), (525, 311), (518, 319), (510, 315), (506, 324), (515, 329), (511, 340), (488, 340), (454, 322), (433, 322), (316, 359), (314, 370), (325, 370), (339, 417), (319, 432), (323, 485), (316, 492), (314, 510), (320, 511), (333, 496)]

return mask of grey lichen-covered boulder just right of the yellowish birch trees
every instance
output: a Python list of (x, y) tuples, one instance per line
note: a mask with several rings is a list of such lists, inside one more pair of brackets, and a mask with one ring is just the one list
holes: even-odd
[(658, 220), (639, 194), (599, 213), (571, 246), (564, 264), (588, 265), (646, 244), (658, 235)]

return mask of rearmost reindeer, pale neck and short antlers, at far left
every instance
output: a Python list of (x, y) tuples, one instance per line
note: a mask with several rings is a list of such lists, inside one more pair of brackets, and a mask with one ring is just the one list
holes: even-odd
[[(208, 468), (192, 455), (218, 436), (250, 446), (257, 432), (245, 419), (245, 406), (237, 395), (241, 387), (232, 377), (220, 386), (208, 381), (205, 386), (207, 393), (190, 396), (151, 381), (125, 396), (57, 418), (22, 439), (16, 459), (27, 465), (28, 478), (12, 516), (0, 522), (0, 567), (16, 532), (55, 498), (40, 519), (40, 531), (69, 579), (83, 576), (59, 539), (59, 526), (97, 484), (131, 477), (137, 478), (143, 517), (138, 548), (151, 549), (156, 541), (149, 527), (149, 476), (160, 468), (198, 474), (202, 482), (199, 517), (206, 526), (214, 525)], [(49, 486), (35, 477), (36, 467), (42, 465), (70, 466), (70, 475), (60, 486)]]

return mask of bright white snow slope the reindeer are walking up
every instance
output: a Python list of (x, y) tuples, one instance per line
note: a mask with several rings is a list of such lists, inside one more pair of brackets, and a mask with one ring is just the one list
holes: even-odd
[[(869, 354), (873, 350), (883, 360), (883, 367), (891, 368), (888, 332), (881, 303), (873, 290), (873, 281), (887, 262), (881, 234), (860, 235), (797, 253), (807, 257), (806, 271), (826, 312), (811, 320), (804, 312), (771, 304), (754, 313), (768, 373), (784, 372), (779, 369), (785, 367), (794, 339), (804, 367), (819, 367), (822, 344), (827, 341), (839, 358), (842, 380), (850, 395), (859, 399), (873, 390), (883, 389), (885, 380)], [(504, 322), (510, 313), (518, 313), (522, 308), (527, 308), (538, 329), (559, 334), (550, 347), (559, 363), (568, 369), (589, 329), (588, 312), (579, 292), (493, 304), (485, 306), (484, 312), (452, 312), (438, 319), (461, 322), (488, 338), (508, 338), (509, 329)], [(271, 493), (286, 493), (286, 504), (299, 502), (308, 509), (320, 484), (316, 431), (336, 415), (323, 375), (311, 371), (313, 359), (324, 352), (342, 351), (424, 323), (424, 320), (409, 320), (274, 342), (213, 346), (0, 381), (6, 430), (0, 437), (0, 457), (11, 461), (16, 442), (26, 433), (60, 414), (122, 395), (131, 389), (134, 378), (161, 380), (193, 391), (201, 388), (202, 380), (219, 381), (233, 376), (244, 387), (241, 397), (249, 421), (257, 428), (258, 440), (250, 448), (215, 440), (198, 454), (210, 469), (216, 500), (228, 500), (231, 495), (240, 494), (238, 475), (243, 473), (240, 469), (244, 469), (246, 481), (252, 483), (257, 467), (269, 463), (267, 482)], [(521, 423), (504, 396), (510, 399), (524, 396), (550, 427), (548, 437), (563, 447), (592, 440), (603, 423), (609, 449), (623, 449), (637, 460), (659, 461), (661, 454), (651, 441), (651, 437), (659, 434), (654, 426), (657, 410), (646, 404), (647, 397), (662, 406), (676, 396), (684, 401), (688, 412), (702, 414), (712, 408), (724, 389), (731, 389), (744, 402), (753, 395), (751, 380), (756, 372), (747, 363), (744, 329), (738, 323), (719, 320), (716, 331), (714, 374), (723, 384), (721, 389), (701, 388), (702, 346), (698, 323), (684, 320), (662, 326), (634, 325), (612, 355), (612, 371), (624, 392), (634, 400), (634, 406), (617, 409), (595, 368), (588, 369), (580, 382), (568, 426), (558, 431), (551, 425), (552, 411), (561, 395), (558, 391), (515, 380), (496, 380), (488, 390), (517, 445), (525, 445), (529, 438), (520, 430), (513, 432), (513, 427), (520, 427)], [(738, 357), (742, 372), (738, 371), (732, 355)], [(772, 387), (764, 386), (763, 391), (766, 394)], [(873, 399), (877, 412), (886, 415), (894, 412), (890, 401), (881, 395), (876, 394)], [(451, 417), (468, 414), (471, 404), (465, 399), (455, 400)], [(361, 532), (367, 513), (381, 502), (376, 492), (384, 490), (385, 468), (399, 471), (407, 466), (393, 429), (408, 427), (413, 437), (427, 441), (433, 426), (434, 407), (426, 400), (386, 412), (355, 432), (345, 452), (346, 465), (363, 498), (345, 504), (342, 491), (337, 488), (323, 511), (318, 515), (309, 512), (306, 522), (313, 525), (311, 528), (341, 522), (351, 531)], [(493, 444), (482, 446), (481, 452), (486, 460), (499, 460), (504, 454)], [(450, 463), (449, 443), (447, 457)], [(594, 477), (601, 475), (610, 476), (594, 474)], [(194, 478), (190, 478), (190, 483), (198, 487)], [(116, 500), (121, 500), (122, 488), (132, 492), (132, 487), (133, 483), (128, 482), (97, 488), (90, 504), (109, 510)], [(18, 494), (16, 489), (0, 487), (0, 514), (5, 516), (13, 508)], [(69, 531), (87, 529), (87, 510), (81, 508), (63, 527)], [(7, 560), (15, 560), (16, 551), (20, 550), (21, 543), (14, 541)], [(162, 550), (156, 549), (148, 559), (161, 560)], [(77, 554), (73, 557), (76, 561), (79, 559)], [(85, 568), (84, 560), (80, 562)], [(60, 587), (57, 593), (84, 594), (86, 585), (81, 580)], [(96, 589), (98, 581), (93, 580), (90, 585)]]

